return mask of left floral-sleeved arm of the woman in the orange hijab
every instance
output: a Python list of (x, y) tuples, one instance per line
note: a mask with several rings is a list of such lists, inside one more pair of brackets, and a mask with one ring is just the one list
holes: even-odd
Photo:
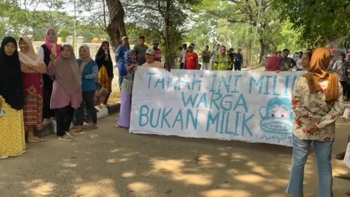
[(311, 111), (306, 109), (306, 107), (303, 106), (302, 100), (302, 94), (300, 93), (300, 89), (302, 89), (302, 86), (307, 86), (306, 78), (299, 77), (295, 81), (293, 93), (292, 93), (292, 110), (294, 113), (298, 116), (301, 116), (303, 118), (311, 118), (315, 116)]

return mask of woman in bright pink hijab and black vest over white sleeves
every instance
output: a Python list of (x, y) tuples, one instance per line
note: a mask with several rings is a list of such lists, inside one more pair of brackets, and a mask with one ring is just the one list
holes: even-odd
[[(44, 33), (45, 43), (39, 47), (38, 58), (44, 60), (46, 67), (51, 61), (51, 54), (57, 58), (61, 54), (61, 45), (57, 44), (58, 34), (54, 28), (48, 28)], [(49, 75), (43, 74), (43, 118), (44, 122), (50, 121), (50, 118), (55, 117), (55, 111), (50, 109), (50, 99), (52, 93), (52, 79)]]

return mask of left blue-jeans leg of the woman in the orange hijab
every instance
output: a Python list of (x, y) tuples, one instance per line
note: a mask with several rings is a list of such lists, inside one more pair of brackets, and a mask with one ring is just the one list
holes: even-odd
[(293, 135), (293, 159), (286, 193), (303, 196), (304, 166), (310, 149), (310, 140), (301, 140)]

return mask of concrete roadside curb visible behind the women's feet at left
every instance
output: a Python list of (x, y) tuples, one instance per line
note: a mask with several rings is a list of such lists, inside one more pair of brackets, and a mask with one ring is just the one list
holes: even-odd
[[(107, 115), (103, 115), (100, 118), (106, 117), (106, 116), (110, 116), (112, 114), (116, 114), (119, 113), (120, 111), (120, 103), (114, 103), (111, 104), (109, 107), (107, 107), (107, 111), (108, 114)], [(88, 115), (87, 116), (87, 123), (91, 122), (91, 117)], [(48, 124), (44, 124), (43, 125), (43, 129), (42, 130), (35, 130), (34, 131), (34, 135), (38, 136), (38, 137), (44, 137), (50, 134), (55, 134), (55, 128), (54, 128), (54, 123), (50, 122)]]

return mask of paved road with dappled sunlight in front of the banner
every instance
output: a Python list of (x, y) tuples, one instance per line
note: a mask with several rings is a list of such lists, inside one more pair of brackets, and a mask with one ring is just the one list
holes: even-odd
[[(237, 141), (134, 135), (112, 129), (117, 116), (73, 142), (49, 136), (21, 157), (0, 161), (1, 197), (284, 197), (292, 149)], [(334, 154), (349, 125), (337, 124)], [(334, 156), (334, 155), (333, 155)], [(334, 173), (346, 168), (333, 160)], [(306, 196), (316, 197), (315, 154), (305, 172)], [(334, 180), (334, 196), (349, 182)]]

